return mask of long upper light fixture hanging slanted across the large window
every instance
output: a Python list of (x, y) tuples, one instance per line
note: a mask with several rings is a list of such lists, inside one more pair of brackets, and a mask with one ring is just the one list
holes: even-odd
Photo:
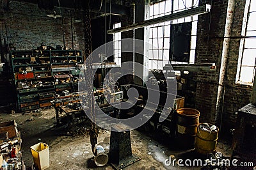
[(205, 4), (205, 5), (202, 5), (202, 6), (191, 8), (189, 10), (184, 10), (182, 12), (176, 12), (176, 13), (172, 13), (170, 15), (165, 15), (163, 17), (158, 17), (156, 19), (145, 20), (143, 22), (138, 22), (138, 23), (135, 23), (135, 24), (131, 24), (129, 26), (119, 27), (119, 28), (116, 28), (116, 29), (109, 29), (108, 34), (130, 31), (132, 29), (138, 29), (138, 28), (141, 28), (141, 27), (150, 26), (150, 25), (153, 25), (153, 24), (161, 23), (161, 22), (166, 22), (166, 21), (175, 20), (175, 19), (181, 19), (181, 18), (184, 18), (184, 17), (191, 17), (193, 15), (204, 14), (204, 13), (208, 13), (210, 11), (211, 11), (211, 5), (210, 4)]

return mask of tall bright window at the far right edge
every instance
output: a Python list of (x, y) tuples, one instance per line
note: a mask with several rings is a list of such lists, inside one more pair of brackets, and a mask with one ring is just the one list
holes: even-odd
[[(246, 1), (242, 36), (256, 36), (256, 0)], [(256, 65), (256, 39), (243, 38), (240, 42), (236, 82), (252, 85)]]

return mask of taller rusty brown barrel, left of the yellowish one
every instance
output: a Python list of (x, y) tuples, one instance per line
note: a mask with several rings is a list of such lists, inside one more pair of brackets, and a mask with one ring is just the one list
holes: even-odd
[(199, 124), (200, 112), (192, 108), (177, 110), (177, 144), (180, 148), (195, 147), (195, 138)]

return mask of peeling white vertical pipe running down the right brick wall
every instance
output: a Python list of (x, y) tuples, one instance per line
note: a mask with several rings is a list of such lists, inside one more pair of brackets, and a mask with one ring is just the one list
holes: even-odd
[(227, 17), (226, 17), (225, 33), (224, 33), (224, 37), (227, 37), (227, 38), (224, 38), (223, 40), (221, 66), (220, 66), (220, 78), (218, 83), (219, 85), (218, 85), (214, 123), (220, 123), (220, 112), (221, 112), (221, 105), (223, 102), (223, 101), (221, 102), (221, 97), (223, 97), (223, 89), (225, 86), (225, 74), (227, 70), (228, 49), (230, 47), (230, 35), (232, 30), (234, 8), (235, 8), (235, 0), (228, 0)]

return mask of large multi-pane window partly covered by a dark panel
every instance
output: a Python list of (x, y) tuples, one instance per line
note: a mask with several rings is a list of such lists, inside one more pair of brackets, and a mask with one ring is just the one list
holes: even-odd
[[(150, 5), (150, 19), (180, 12), (198, 6), (198, 1), (166, 0)], [(186, 24), (183, 24), (186, 23)], [(188, 24), (189, 23), (189, 24)], [(179, 29), (177, 31), (177, 29)], [(161, 69), (168, 63), (194, 63), (196, 47), (197, 15), (154, 24), (149, 31), (148, 68)], [(182, 31), (182, 33), (179, 33)], [(186, 35), (186, 38), (184, 38)], [(188, 37), (187, 37), (188, 36)], [(177, 43), (184, 48), (177, 49)], [(181, 54), (177, 56), (175, 54)]]

